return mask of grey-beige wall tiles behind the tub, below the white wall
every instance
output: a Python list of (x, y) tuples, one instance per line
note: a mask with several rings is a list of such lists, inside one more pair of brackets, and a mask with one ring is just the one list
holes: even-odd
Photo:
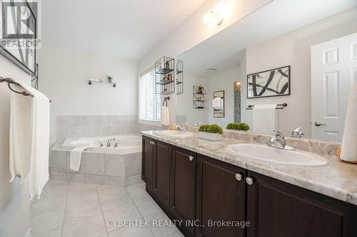
[(137, 115), (58, 115), (56, 141), (67, 138), (135, 134), (145, 130), (164, 130), (138, 123)]

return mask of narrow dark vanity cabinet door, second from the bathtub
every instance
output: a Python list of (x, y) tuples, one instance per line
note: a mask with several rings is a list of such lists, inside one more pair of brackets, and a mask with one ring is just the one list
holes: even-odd
[(154, 157), (154, 191), (166, 206), (169, 206), (170, 195), (170, 145), (156, 141)]

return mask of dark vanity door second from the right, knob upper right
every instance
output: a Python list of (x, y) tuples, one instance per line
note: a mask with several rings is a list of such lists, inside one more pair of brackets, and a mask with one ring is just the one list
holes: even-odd
[[(245, 220), (245, 170), (197, 154), (198, 236), (243, 237), (244, 226), (219, 226)], [(217, 222), (213, 222), (217, 221)]]

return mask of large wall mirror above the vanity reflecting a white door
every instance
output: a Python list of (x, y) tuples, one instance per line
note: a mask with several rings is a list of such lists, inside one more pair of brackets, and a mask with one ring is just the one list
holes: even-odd
[[(186, 70), (176, 122), (223, 128), (246, 122), (249, 132), (272, 134), (275, 128), (287, 137), (301, 127), (305, 138), (341, 142), (357, 82), (357, 7), (313, 21), (269, 19), (258, 27), (270, 12), (264, 6), (178, 56)], [(206, 90), (204, 108), (191, 106), (195, 85)], [(215, 100), (221, 95), (223, 107)], [(274, 105), (274, 114), (261, 113)]]

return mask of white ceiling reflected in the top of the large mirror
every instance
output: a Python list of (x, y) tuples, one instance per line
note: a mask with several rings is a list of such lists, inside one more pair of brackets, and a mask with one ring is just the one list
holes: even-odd
[(183, 60), (186, 72), (197, 75), (205, 75), (203, 71), (207, 68), (216, 68), (217, 73), (237, 68), (247, 47), (356, 5), (357, 0), (273, 0), (178, 58)]

